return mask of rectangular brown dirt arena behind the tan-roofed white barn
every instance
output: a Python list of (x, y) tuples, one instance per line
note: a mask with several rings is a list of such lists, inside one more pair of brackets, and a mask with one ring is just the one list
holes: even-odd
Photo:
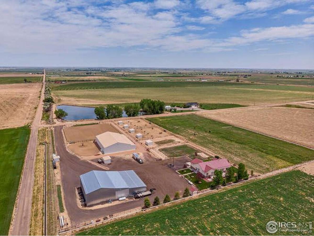
[(107, 131), (119, 133), (110, 124), (71, 126), (64, 128), (64, 135), (68, 143), (93, 141), (95, 136)]

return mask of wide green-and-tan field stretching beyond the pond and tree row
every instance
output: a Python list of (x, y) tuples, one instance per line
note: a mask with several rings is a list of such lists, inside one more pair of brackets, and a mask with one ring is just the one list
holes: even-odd
[[(240, 105), (304, 101), (312, 99), (312, 96), (314, 96), (313, 88), (296, 86), (214, 82), (191, 82), (191, 86), (187, 86), (185, 82), (114, 82), (111, 85), (100, 83), (102, 84), (101, 86), (110, 86), (110, 88), (97, 88), (99, 83), (91, 83), (94, 89), (91, 89), (92, 87), (89, 86), (85, 87), (83, 84), (86, 83), (78, 83), (75, 87), (69, 84), (67, 87), (63, 87), (65, 85), (54, 87), (53, 96), (58, 102), (69, 104), (127, 103), (139, 102), (142, 98), (152, 98), (168, 103), (195, 101), (199, 103), (234, 103)], [(106, 84), (109, 84), (109, 82)], [(156, 86), (171, 87), (154, 87), (154, 84)], [(114, 88), (113, 86), (117, 87)], [(73, 90), (57, 90), (61, 89), (60, 87)]]

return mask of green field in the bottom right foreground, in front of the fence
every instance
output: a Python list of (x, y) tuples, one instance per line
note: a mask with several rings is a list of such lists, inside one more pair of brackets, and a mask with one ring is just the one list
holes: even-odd
[(77, 235), (269, 235), (271, 220), (313, 221), (313, 195), (314, 177), (290, 171)]

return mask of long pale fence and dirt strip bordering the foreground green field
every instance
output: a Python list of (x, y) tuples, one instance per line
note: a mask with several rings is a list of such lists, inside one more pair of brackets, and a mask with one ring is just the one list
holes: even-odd
[(177, 199), (177, 200), (173, 200), (171, 202), (163, 203), (163, 204), (160, 204), (158, 206), (152, 206), (152, 207), (149, 207), (149, 208), (146, 208), (146, 209), (138, 207), (138, 208), (134, 208), (134, 209), (131, 209), (129, 211), (120, 212), (120, 213), (117, 213), (117, 214), (114, 214), (114, 215), (111, 215), (111, 216), (105, 216), (103, 218), (98, 218), (98, 219), (95, 219), (95, 220), (84, 222), (82, 224), (73, 225), (73, 226), (67, 227), (67, 228), (62, 228), (62, 230), (58, 232), (58, 235), (70, 235), (70, 234), (73, 234), (74, 231), (84, 230), (84, 229), (87, 229), (87, 228), (94, 228), (94, 227), (104, 225), (106, 223), (109, 223), (109, 222), (117, 220), (117, 219), (122, 219), (122, 218), (127, 217), (127, 216), (135, 215), (135, 214), (140, 213), (140, 212), (152, 211), (154, 209), (158, 209), (158, 208), (163, 207), (163, 206), (170, 206), (171, 204), (174, 204), (174, 203), (184, 202), (184, 201), (187, 201), (187, 200), (190, 200), (190, 199), (198, 198), (198, 197), (201, 197), (202, 195), (213, 193), (213, 192), (215, 192), (215, 191), (217, 191), (219, 189), (230, 188), (230, 187), (235, 186), (235, 185), (244, 184), (244, 183), (246, 183), (248, 181), (251, 181), (251, 180), (262, 179), (262, 178), (265, 178), (265, 177), (268, 177), (268, 176), (279, 174), (281, 172), (290, 171), (290, 170), (295, 169), (297, 167), (303, 166), (305, 164), (313, 163), (313, 162), (314, 162), (314, 160), (306, 161), (306, 162), (297, 164), (295, 166), (289, 166), (289, 167), (286, 167), (286, 168), (283, 168), (283, 169), (280, 169), (280, 170), (276, 170), (276, 171), (272, 171), (272, 172), (265, 173), (265, 174), (262, 174), (262, 175), (250, 177), (249, 179), (241, 180), (238, 183), (230, 183), (230, 184), (227, 184), (226, 186), (221, 186), (221, 187), (216, 188), (216, 189), (208, 189), (208, 188), (207, 189), (203, 189), (201, 191), (198, 191), (196, 194), (194, 194), (192, 196), (189, 196), (189, 197), (186, 197), (186, 198)]

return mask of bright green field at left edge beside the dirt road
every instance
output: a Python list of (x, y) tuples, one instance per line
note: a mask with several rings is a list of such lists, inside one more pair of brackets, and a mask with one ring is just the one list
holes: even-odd
[(8, 235), (30, 129), (0, 130), (0, 235)]

